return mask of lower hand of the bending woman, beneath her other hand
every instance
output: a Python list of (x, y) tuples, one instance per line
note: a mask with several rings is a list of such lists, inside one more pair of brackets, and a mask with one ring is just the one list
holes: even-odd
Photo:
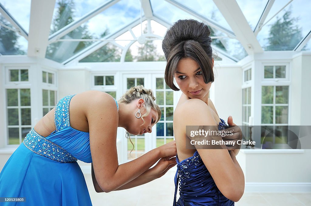
[(163, 157), (150, 170), (156, 178), (162, 177), (169, 169), (176, 165), (176, 156)]

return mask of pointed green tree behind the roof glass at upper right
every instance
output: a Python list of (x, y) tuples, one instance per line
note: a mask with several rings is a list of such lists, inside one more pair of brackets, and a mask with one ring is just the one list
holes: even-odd
[(282, 18), (277, 17), (276, 22), (271, 25), (265, 50), (293, 50), (302, 39), (301, 28), (297, 24), (299, 18), (291, 17), (291, 13), (290, 7)]

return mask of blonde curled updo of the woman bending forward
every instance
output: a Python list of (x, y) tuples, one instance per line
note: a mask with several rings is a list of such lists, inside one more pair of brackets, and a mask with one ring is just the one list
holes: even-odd
[(156, 104), (156, 102), (155, 102), (156, 98), (154, 97), (153, 91), (151, 89), (146, 89), (142, 85), (134, 86), (122, 95), (122, 97), (119, 99), (118, 103), (129, 104), (135, 99), (143, 99), (145, 101), (143, 106), (146, 108), (146, 113), (144, 115), (142, 115), (142, 120), (144, 122), (145, 122), (144, 117), (148, 116), (151, 108), (153, 108), (156, 112), (158, 112), (159, 117), (156, 120), (156, 123), (160, 120), (161, 109)]

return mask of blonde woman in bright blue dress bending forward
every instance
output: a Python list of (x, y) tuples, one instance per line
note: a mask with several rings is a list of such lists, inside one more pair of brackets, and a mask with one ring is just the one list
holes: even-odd
[(132, 87), (118, 102), (100, 91), (66, 96), (31, 129), (5, 164), (0, 197), (24, 198), (21, 205), (91, 205), (77, 159), (92, 163), (97, 192), (159, 178), (176, 164), (175, 141), (119, 165), (116, 136), (118, 127), (134, 135), (151, 133), (160, 117), (153, 92), (142, 86)]

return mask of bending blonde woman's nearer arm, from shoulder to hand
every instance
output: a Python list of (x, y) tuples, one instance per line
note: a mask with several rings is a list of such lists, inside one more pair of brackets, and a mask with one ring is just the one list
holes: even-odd
[(98, 92), (87, 108), (94, 176), (103, 191), (116, 190), (140, 176), (160, 158), (176, 154), (175, 142), (170, 142), (135, 160), (118, 165), (118, 111), (114, 99), (109, 94)]

